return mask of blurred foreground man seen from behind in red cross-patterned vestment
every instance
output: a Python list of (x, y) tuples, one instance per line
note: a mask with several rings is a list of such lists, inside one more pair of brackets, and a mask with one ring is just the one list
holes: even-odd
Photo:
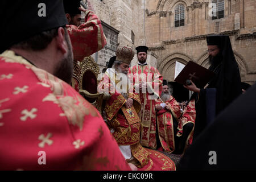
[(130, 170), (101, 115), (69, 85), (63, 1), (1, 1), (0, 12), (12, 20), (0, 35), (0, 170)]

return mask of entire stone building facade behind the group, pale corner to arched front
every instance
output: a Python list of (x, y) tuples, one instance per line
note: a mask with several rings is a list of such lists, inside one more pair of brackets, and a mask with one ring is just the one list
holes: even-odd
[[(255, 0), (90, 1), (101, 20), (119, 31), (115, 45), (148, 46), (148, 63), (170, 86), (176, 61), (209, 66), (206, 36), (212, 34), (230, 36), (242, 81), (251, 85), (256, 81)], [(99, 57), (98, 64), (105, 65), (109, 57)]]

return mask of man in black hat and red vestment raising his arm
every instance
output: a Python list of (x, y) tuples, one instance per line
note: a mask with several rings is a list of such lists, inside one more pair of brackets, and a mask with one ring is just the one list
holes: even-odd
[[(68, 34), (71, 38), (74, 55), (72, 87), (79, 92), (80, 63), (84, 57), (100, 51), (106, 45), (101, 20), (94, 13), (93, 6), (87, 1), (88, 9), (80, 7), (80, 0), (64, 0), (64, 10), (68, 20)], [(81, 11), (85, 23), (81, 23)]]

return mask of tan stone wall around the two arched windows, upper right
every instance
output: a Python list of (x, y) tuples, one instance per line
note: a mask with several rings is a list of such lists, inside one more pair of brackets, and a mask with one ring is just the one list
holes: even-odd
[[(146, 46), (158, 56), (158, 69), (174, 79), (175, 60), (209, 66), (206, 36), (229, 35), (242, 81), (256, 81), (256, 1), (225, 0), (224, 18), (212, 20), (210, 1), (159, 0), (146, 3)], [(185, 7), (184, 26), (175, 27), (175, 9)], [(154, 35), (154, 36), (153, 36)]]

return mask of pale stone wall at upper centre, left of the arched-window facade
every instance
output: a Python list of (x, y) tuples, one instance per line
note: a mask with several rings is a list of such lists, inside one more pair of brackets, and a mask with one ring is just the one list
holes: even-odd
[[(108, 26), (118, 31), (118, 38), (111, 38), (108, 28), (105, 26), (104, 33), (108, 44), (100, 52), (93, 56), (100, 65), (100, 70), (106, 66), (106, 61), (114, 55), (118, 44), (130, 46), (135, 49), (138, 45), (145, 44), (144, 38), (144, 3), (145, 0), (90, 0), (96, 14)], [(111, 29), (111, 28), (110, 28)], [(134, 32), (134, 44), (131, 40), (131, 31)], [(113, 40), (111, 40), (113, 39)]]

